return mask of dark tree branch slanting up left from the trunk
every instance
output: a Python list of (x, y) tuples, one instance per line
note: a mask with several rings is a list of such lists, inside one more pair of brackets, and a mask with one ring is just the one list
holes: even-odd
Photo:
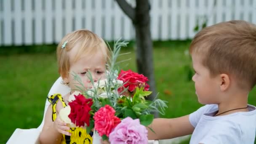
[(132, 20), (135, 21), (135, 9), (127, 3), (126, 0), (115, 0), (123, 12)]

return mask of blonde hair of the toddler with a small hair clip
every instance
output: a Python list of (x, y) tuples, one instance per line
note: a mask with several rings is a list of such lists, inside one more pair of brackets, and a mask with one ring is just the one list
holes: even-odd
[[(66, 45), (64, 45), (65, 42)], [(69, 52), (74, 47), (77, 47), (75, 50), (75, 57), (71, 59)], [(61, 77), (67, 77), (71, 62), (79, 60), (84, 54), (92, 56), (98, 51), (101, 51), (104, 54), (107, 63), (110, 57), (109, 48), (104, 40), (98, 35), (86, 29), (79, 29), (65, 35), (56, 50), (59, 74)]]

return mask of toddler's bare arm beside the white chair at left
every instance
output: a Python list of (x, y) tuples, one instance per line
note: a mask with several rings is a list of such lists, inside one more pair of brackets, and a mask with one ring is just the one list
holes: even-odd
[(59, 144), (61, 141), (61, 133), (56, 131), (53, 127), (51, 115), (52, 110), (50, 105), (45, 113), (45, 123), (43, 125), (43, 130), (40, 133), (40, 144)]

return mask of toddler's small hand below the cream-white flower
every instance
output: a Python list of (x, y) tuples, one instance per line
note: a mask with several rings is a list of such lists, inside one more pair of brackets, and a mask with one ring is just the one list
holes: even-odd
[(53, 127), (55, 130), (57, 130), (59, 133), (62, 133), (67, 136), (71, 136), (71, 133), (67, 132), (70, 128), (67, 126), (66, 123), (64, 123), (59, 115), (57, 116), (56, 120), (53, 122)]

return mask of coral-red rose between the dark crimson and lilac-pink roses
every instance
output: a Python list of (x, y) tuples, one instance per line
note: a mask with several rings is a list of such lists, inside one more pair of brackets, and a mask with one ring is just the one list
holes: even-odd
[(121, 120), (115, 116), (115, 109), (109, 105), (101, 107), (98, 112), (95, 112), (93, 116), (94, 128), (100, 136), (109, 136), (109, 133), (121, 122)]

